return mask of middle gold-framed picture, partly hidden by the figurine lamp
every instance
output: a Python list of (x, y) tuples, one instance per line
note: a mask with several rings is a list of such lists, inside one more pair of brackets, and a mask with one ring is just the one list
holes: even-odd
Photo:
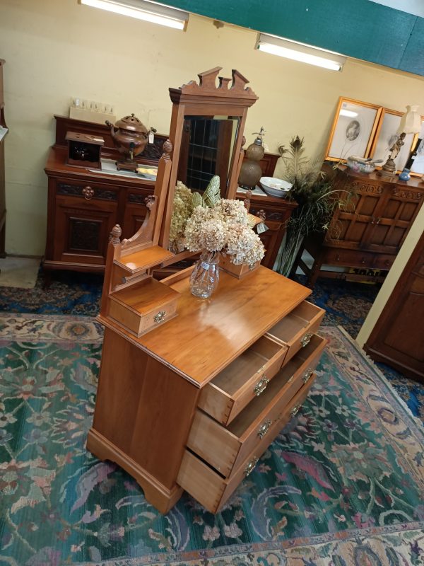
[[(379, 163), (377, 168), (381, 168), (381, 166), (386, 163), (390, 154), (391, 146), (399, 138), (399, 135), (396, 132), (398, 131), (401, 123), (401, 116), (403, 116), (404, 113), (405, 112), (382, 108), (380, 120), (375, 132), (375, 139), (372, 142), (372, 148), (370, 151), (370, 156), (372, 156), (373, 160), (382, 160), (382, 163)], [(406, 134), (404, 145), (401, 147), (399, 154), (397, 154), (394, 158), (394, 163), (396, 163), (396, 173), (400, 173), (400, 171), (402, 171), (405, 167), (406, 161), (408, 161), (408, 158), (411, 155), (414, 139), (416, 139), (415, 134)]]

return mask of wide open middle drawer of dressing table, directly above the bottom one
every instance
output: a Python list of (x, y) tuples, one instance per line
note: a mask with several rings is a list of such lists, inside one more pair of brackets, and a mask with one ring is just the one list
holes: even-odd
[(325, 344), (324, 338), (314, 335), (278, 372), (264, 395), (252, 400), (228, 427), (197, 410), (187, 447), (228, 478), (256, 450), (290, 400), (309, 381)]

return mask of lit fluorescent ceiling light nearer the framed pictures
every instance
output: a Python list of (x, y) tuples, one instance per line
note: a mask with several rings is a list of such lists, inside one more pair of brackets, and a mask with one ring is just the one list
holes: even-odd
[(317, 67), (324, 67), (324, 69), (331, 71), (341, 71), (346, 62), (346, 57), (337, 53), (310, 47), (310, 45), (303, 43), (283, 40), (281, 37), (265, 35), (264, 33), (259, 34), (256, 47), (266, 53), (317, 65)]

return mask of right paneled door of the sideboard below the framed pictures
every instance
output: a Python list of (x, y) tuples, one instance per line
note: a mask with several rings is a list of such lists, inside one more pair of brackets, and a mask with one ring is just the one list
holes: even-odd
[(424, 194), (404, 185), (384, 185), (384, 196), (379, 209), (372, 219), (372, 231), (366, 242), (370, 251), (399, 252), (408, 230), (413, 223)]

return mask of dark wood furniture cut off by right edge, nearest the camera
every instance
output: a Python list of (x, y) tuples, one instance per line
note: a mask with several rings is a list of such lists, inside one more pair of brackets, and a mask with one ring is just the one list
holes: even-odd
[(424, 381), (424, 233), (364, 349), (377, 362)]

